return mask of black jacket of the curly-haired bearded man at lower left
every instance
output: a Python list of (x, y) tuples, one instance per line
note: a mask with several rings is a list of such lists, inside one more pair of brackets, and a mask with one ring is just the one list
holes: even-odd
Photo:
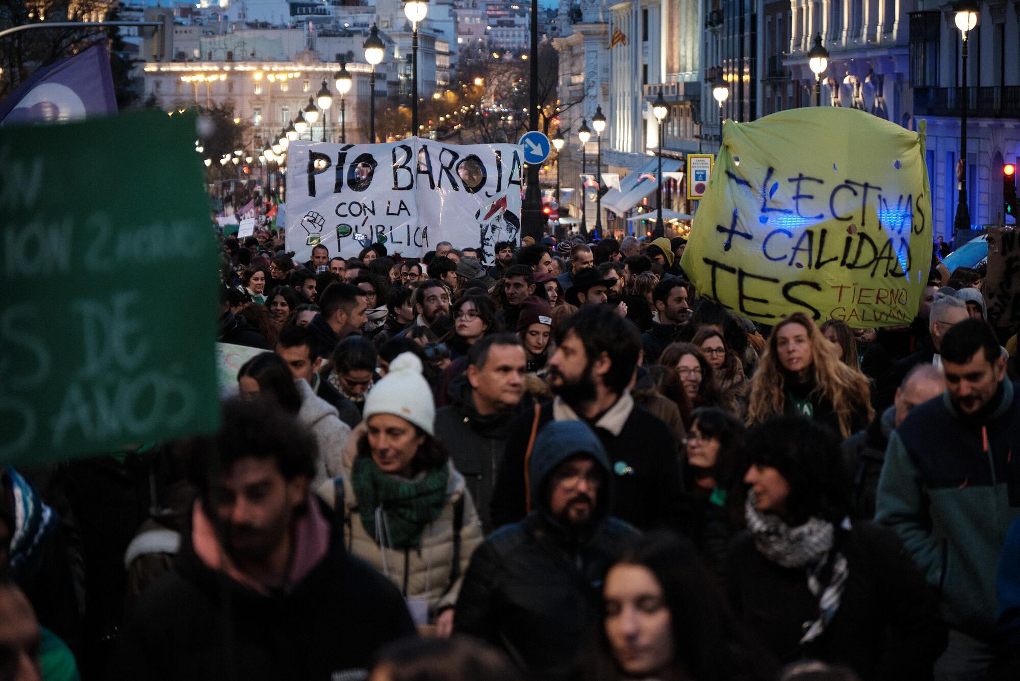
[(330, 681), (367, 670), (379, 646), (414, 626), (397, 588), (349, 555), (332, 525), (326, 556), (271, 596), (210, 570), (186, 533), (175, 571), (149, 586), (124, 628), (113, 678)]

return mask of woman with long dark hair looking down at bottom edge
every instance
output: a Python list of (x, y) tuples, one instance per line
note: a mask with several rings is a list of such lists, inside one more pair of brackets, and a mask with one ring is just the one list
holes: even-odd
[(667, 532), (638, 540), (603, 582), (585, 681), (771, 679), (775, 664), (742, 631), (693, 547)]

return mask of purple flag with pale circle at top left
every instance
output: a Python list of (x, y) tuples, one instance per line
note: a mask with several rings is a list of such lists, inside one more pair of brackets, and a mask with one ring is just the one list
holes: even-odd
[(52, 123), (117, 112), (106, 44), (40, 68), (0, 103), (0, 125)]

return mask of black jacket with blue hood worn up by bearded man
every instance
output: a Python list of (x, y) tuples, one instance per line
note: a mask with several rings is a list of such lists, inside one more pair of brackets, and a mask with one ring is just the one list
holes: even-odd
[[(600, 611), (602, 581), (638, 532), (607, 517), (615, 481), (599, 490), (595, 524), (570, 535), (544, 498), (545, 480), (572, 451), (567, 444), (531, 456), (536, 509), (494, 532), (471, 555), (454, 630), (502, 648), (537, 681), (574, 678), (577, 650)], [(595, 456), (611, 476), (601, 452)]]

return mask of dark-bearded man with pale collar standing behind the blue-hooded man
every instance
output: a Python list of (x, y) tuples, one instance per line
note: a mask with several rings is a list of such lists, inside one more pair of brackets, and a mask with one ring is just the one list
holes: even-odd
[(525, 481), (531, 433), (551, 421), (583, 421), (609, 456), (614, 478), (613, 516), (642, 530), (677, 528), (681, 522), (676, 440), (666, 424), (634, 403), (633, 381), (641, 336), (607, 306), (591, 306), (563, 320), (547, 378), (556, 397), (510, 428), (506, 454), (493, 490), (493, 525), (514, 523), (530, 509)]

